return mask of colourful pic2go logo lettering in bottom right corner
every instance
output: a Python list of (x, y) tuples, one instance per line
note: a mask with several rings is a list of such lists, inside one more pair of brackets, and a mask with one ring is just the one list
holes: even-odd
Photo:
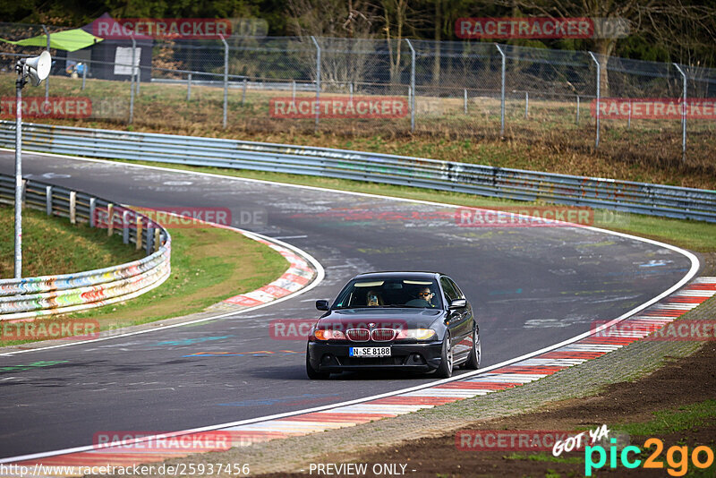
[[(609, 447), (609, 468), (617, 468), (617, 457), (619, 455), (617, 447), (614, 445), (617, 440), (611, 439), (612, 445)], [(656, 447), (652, 452), (652, 455), (644, 460), (644, 468), (664, 468), (664, 462), (659, 460), (659, 456), (664, 449), (664, 442), (660, 439), (651, 438), (644, 441), (644, 449)], [(594, 454), (599, 456), (598, 460), (594, 461)], [(636, 468), (642, 465), (642, 460), (638, 458), (630, 459), (629, 454), (640, 455), (642, 450), (639, 447), (630, 445), (621, 450), (620, 460), (621, 464), (625, 468)], [(677, 457), (678, 456), (678, 457)], [(702, 457), (705, 459), (702, 461)], [(700, 446), (694, 448), (690, 455), (691, 463), (696, 468), (708, 468), (713, 465), (713, 451), (711, 448)], [(686, 446), (673, 446), (670, 447), (666, 452), (666, 462), (669, 467), (667, 473), (671, 476), (684, 476), (688, 471), (689, 464), (689, 453), (688, 447)], [(584, 448), (584, 475), (592, 476), (592, 469), (599, 470), (602, 466), (607, 464), (607, 450), (600, 445), (594, 447)]]

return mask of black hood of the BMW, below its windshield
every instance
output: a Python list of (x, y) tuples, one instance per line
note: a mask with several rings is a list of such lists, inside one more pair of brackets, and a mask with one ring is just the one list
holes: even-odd
[[(342, 309), (321, 317), (318, 329), (428, 329), (436, 320), (444, 320), (442, 309)], [(374, 324), (371, 326), (371, 324)]]

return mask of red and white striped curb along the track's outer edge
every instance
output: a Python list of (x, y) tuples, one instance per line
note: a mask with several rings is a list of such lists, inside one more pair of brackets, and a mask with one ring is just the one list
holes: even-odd
[[(289, 261), (291, 260), (294, 260), (294, 258), (289, 259)], [(300, 265), (300, 261), (297, 261), (296, 264)], [(249, 294), (244, 296), (246, 295)], [(700, 303), (707, 301), (713, 295), (716, 295), (716, 277), (699, 277), (661, 302), (655, 303), (644, 311), (618, 322), (620, 327), (629, 330), (621, 335), (609, 334), (607, 337), (600, 337), (598, 331), (601, 329), (596, 329), (592, 334), (587, 334), (586, 337), (579, 338), (564, 346), (558, 346), (542, 354), (536, 354), (514, 363), (490, 368), (487, 371), (477, 371), (465, 379), (440, 380), (438, 384), (431, 386), (417, 387), (395, 395), (386, 394), (385, 397), (369, 398), (366, 401), (354, 400), (352, 403), (337, 405), (333, 408), (328, 405), (320, 409), (314, 409), (315, 411), (293, 415), (284, 414), (287, 416), (277, 415), (271, 419), (244, 421), (234, 426), (177, 431), (167, 433), (166, 436), (191, 437), (200, 436), (200, 434), (208, 431), (221, 431), (229, 434), (233, 447), (247, 447), (262, 441), (351, 427), (381, 418), (409, 414), (424, 408), (432, 408), (437, 405), (464, 400), (465, 398), (487, 395), (507, 388), (520, 387), (573, 365), (598, 358), (644, 338), (654, 329), (663, 327), (686, 312), (695, 309)], [(253, 297), (251, 296), (251, 298)], [(609, 324), (611, 323), (609, 322)], [(61, 473), (63, 475), (73, 475), (79, 474), (81, 472), (80, 467), (84, 466), (148, 464), (170, 458), (187, 457), (197, 452), (191, 449), (169, 450), (156, 447), (149, 449), (141, 445), (143, 440), (129, 440), (124, 442), (122, 446), (115, 448), (92, 449), (92, 447), (81, 447), (75, 448), (76, 451), (64, 450), (63, 454), (54, 456), (16, 457), (15, 459), (21, 459), (21, 461), (12, 461), (11, 458), (0, 460), (0, 463), (12, 462), (13, 465), (25, 465), (30, 470), (36, 465), (74, 466), (75, 473), (66, 470)], [(47, 470), (47, 468), (45, 469)]]

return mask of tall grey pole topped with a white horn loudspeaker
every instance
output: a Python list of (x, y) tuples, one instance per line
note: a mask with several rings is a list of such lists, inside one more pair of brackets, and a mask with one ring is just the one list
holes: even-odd
[(28, 78), (33, 86), (39, 86), (49, 76), (51, 64), (47, 51), (32, 58), (21, 58), (15, 64), (15, 278), (22, 277), (22, 87)]

